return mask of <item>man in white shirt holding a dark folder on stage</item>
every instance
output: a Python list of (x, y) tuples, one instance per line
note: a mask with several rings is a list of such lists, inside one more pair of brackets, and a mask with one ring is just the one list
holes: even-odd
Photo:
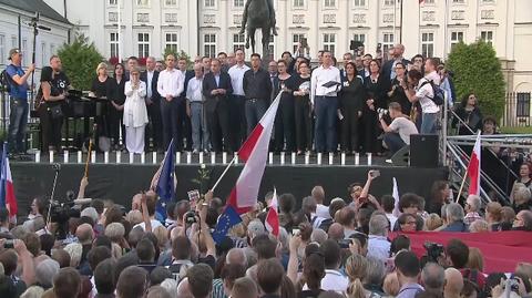
[(332, 66), (332, 54), (324, 51), (323, 64), (313, 71), (310, 79), (310, 103), (316, 113), (316, 152), (336, 151), (337, 94), (340, 82), (340, 71)]

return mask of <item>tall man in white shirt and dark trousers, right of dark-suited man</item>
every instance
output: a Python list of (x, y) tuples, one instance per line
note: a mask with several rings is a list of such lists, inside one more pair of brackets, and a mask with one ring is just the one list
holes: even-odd
[(244, 62), (245, 53), (243, 49), (235, 51), (236, 64), (229, 68), (227, 72), (231, 76), (231, 84), (233, 85), (233, 96), (231, 99), (232, 107), (232, 126), (235, 142), (233, 150), (237, 151), (241, 144), (247, 136), (247, 125), (245, 116), (246, 96), (244, 93), (244, 73), (249, 70), (249, 66)]

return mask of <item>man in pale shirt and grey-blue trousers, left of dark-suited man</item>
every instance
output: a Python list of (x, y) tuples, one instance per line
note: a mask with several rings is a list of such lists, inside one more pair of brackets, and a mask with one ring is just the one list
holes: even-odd
[[(192, 122), (192, 147), (193, 153), (201, 150), (208, 151), (208, 131), (203, 113), (203, 66), (200, 63), (194, 64), (194, 78), (188, 81), (186, 89), (186, 113)], [(203, 137), (202, 137), (203, 136)], [(203, 142), (202, 142), (203, 140)]]

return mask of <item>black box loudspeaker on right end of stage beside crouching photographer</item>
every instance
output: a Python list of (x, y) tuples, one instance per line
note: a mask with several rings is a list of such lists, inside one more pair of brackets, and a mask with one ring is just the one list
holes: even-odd
[(410, 135), (410, 166), (438, 167), (438, 135)]

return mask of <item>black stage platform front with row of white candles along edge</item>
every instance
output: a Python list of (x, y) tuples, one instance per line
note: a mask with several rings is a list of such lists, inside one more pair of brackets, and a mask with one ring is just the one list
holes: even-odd
[[(180, 162), (175, 166), (175, 175), (177, 178), (176, 195), (178, 199), (187, 198), (186, 192), (198, 189), (200, 185), (195, 182), (200, 178), (200, 156), (192, 154), (180, 154)], [(20, 215), (24, 214), (30, 203), (35, 196), (50, 196), (54, 177), (53, 163), (60, 164), (58, 177), (58, 187), (55, 198), (64, 201), (68, 191), (78, 193), (80, 179), (84, 173), (84, 161), (86, 156), (78, 160), (76, 153), (70, 153), (69, 156), (59, 154), (54, 156), (53, 163), (49, 161), (49, 155), (32, 155), (32, 161), (20, 162), (11, 161), (11, 172), (14, 181), (17, 198), (19, 201)], [(68, 158), (65, 158), (68, 157)], [(146, 189), (154, 173), (158, 168), (158, 163), (163, 158), (163, 154), (157, 154), (154, 158), (152, 154), (146, 154), (144, 161), (140, 155), (135, 155), (130, 163), (129, 154), (121, 154), (121, 163), (116, 163), (116, 154), (109, 155), (105, 163), (105, 156), (98, 154), (89, 167), (89, 186), (85, 192), (86, 197), (112, 199), (117, 204), (130, 207), (131, 197), (140, 191)], [(448, 169), (439, 168), (421, 168), (409, 166), (392, 166), (385, 162), (382, 157), (372, 157), (371, 165), (368, 165), (368, 156), (359, 156), (358, 165), (355, 155), (345, 157), (342, 165), (341, 155), (336, 155), (329, 165), (329, 156), (321, 157), (321, 165), (317, 164), (317, 156), (310, 156), (308, 164), (306, 156), (296, 156), (294, 164), (291, 155), (285, 156), (285, 163), (282, 164), (282, 155), (273, 155), (272, 163), (266, 166), (260, 186), (259, 198), (272, 191), (275, 186), (279, 194), (293, 193), (298, 203), (303, 197), (310, 194), (314, 185), (323, 185), (326, 191), (326, 197), (330, 201), (334, 197), (342, 197), (349, 199), (347, 187), (350, 183), (365, 183), (367, 172), (371, 168), (380, 169), (381, 176), (374, 181), (371, 194), (381, 196), (391, 194), (392, 177), (396, 177), (399, 185), (400, 194), (413, 192), (429, 197), (432, 182), (437, 179), (447, 179)], [(233, 156), (226, 156), (229, 162)], [(91, 158), (92, 160), (92, 158)], [(209, 172), (205, 184), (211, 187), (225, 169), (223, 155), (215, 156), (215, 163), (211, 163), (211, 155), (207, 154), (203, 158), (203, 165)], [(65, 163), (66, 162), (66, 163)], [(144, 162), (144, 163), (142, 163)], [(154, 163), (155, 162), (155, 163)], [(190, 163), (188, 163), (190, 162)], [(242, 162), (233, 165), (227, 175), (224, 177), (215, 192), (215, 196), (225, 198), (234, 186), (241, 171)]]

